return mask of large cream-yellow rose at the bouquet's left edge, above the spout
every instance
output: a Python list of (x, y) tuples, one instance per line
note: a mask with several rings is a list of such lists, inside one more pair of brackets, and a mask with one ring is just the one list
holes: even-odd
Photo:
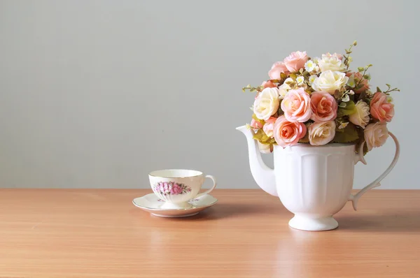
[(279, 110), (279, 89), (265, 88), (255, 98), (253, 112), (258, 119), (267, 121), (271, 115)]

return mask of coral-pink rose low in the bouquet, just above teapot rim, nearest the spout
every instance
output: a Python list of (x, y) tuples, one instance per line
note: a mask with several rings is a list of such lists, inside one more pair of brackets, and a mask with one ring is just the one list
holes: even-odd
[(286, 117), (281, 116), (274, 123), (274, 139), (281, 147), (293, 146), (304, 137), (307, 128), (300, 122), (289, 122)]

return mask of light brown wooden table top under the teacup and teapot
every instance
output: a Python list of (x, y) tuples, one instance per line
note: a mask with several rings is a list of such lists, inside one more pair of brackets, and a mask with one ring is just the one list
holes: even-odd
[(183, 219), (134, 207), (145, 193), (0, 189), (0, 277), (420, 277), (420, 191), (370, 191), (325, 232), (262, 190)]

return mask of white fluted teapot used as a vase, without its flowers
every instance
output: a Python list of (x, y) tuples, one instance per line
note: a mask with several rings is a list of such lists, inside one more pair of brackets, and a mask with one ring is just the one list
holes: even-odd
[(249, 166), (255, 182), (267, 193), (278, 196), (286, 209), (295, 214), (289, 221), (290, 227), (305, 231), (337, 228), (338, 223), (332, 216), (342, 210), (348, 200), (356, 210), (358, 199), (367, 190), (380, 185), (400, 155), (398, 140), (389, 132), (396, 146), (391, 165), (376, 180), (352, 195), (354, 165), (358, 161), (366, 164), (364, 143), (358, 153), (355, 144), (297, 144), (286, 148), (274, 145), (272, 169), (262, 161), (253, 131), (246, 126), (239, 126), (237, 130), (248, 140)]

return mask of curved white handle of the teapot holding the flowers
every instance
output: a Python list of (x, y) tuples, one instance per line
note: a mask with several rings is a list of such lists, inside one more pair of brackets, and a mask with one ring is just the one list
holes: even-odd
[[(388, 175), (389, 172), (391, 172), (392, 168), (395, 166), (395, 164), (398, 161), (398, 157), (400, 156), (400, 142), (398, 142), (398, 139), (393, 135), (393, 133), (388, 132), (388, 134), (393, 138), (393, 141), (395, 142), (395, 155), (394, 155), (393, 161), (391, 162), (391, 165), (388, 166), (388, 168), (385, 170), (385, 172), (382, 173), (382, 175), (380, 175), (376, 180), (374, 180), (373, 182), (365, 186), (363, 189), (358, 191), (356, 195), (353, 196), (352, 194), (350, 194), (349, 200), (351, 200), (351, 202), (353, 203), (354, 210), (357, 210), (357, 203), (358, 203), (359, 198), (363, 196), (363, 194), (366, 193), (366, 191), (381, 185), (380, 184), (381, 180), (383, 180), (384, 177), (386, 177), (386, 175)], [(361, 161), (365, 165), (367, 164), (365, 161), (365, 157), (363, 156), (364, 145), (365, 145), (365, 142), (363, 141), (363, 143), (360, 145), (360, 148), (358, 149), (358, 153), (354, 156), (354, 164), (358, 163), (358, 161)]]

